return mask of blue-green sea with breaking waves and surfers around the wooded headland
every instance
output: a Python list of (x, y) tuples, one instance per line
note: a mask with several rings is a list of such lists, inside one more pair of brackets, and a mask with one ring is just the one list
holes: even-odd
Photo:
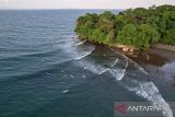
[(88, 12), (103, 11), (0, 11), (0, 117), (113, 117), (117, 101), (150, 101), (171, 115), (174, 87), (78, 39), (75, 19)]

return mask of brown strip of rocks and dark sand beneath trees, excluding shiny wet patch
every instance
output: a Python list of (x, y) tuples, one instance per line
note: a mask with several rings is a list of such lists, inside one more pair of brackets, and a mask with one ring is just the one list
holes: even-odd
[(145, 51), (136, 49), (133, 46), (126, 46), (120, 44), (107, 45), (90, 40), (86, 42), (92, 43), (94, 45), (112, 48), (120, 54), (126, 55), (128, 58), (132, 59), (133, 61), (142, 66), (152, 65), (155, 67), (162, 67), (163, 65), (170, 61), (175, 61), (175, 50), (174, 50), (175, 46), (170, 47), (168, 45), (158, 44), (150, 47), (150, 49)]

